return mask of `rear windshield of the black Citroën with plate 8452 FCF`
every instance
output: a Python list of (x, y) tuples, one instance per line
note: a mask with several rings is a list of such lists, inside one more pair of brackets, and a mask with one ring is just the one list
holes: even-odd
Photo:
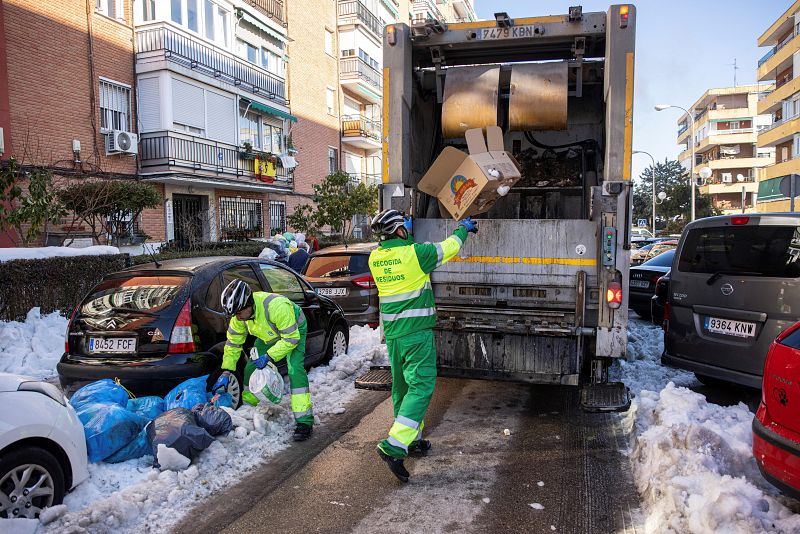
[(81, 305), (83, 315), (156, 313), (172, 304), (175, 295), (189, 283), (188, 276), (136, 275), (100, 282)]

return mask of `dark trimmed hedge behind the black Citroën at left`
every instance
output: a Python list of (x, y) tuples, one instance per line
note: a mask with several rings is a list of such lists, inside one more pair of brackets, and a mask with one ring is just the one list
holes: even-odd
[(42, 313), (71, 313), (106, 274), (128, 265), (127, 254), (0, 263), (0, 320), (22, 321), (36, 306)]

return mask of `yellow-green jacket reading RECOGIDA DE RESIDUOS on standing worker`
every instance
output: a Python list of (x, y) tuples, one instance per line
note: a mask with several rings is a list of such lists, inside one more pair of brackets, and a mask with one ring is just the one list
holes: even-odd
[(467, 240), (459, 226), (441, 243), (387, 239), (369, 255), (369, 269), (378, 286), (386, 339), (396, 339), (436, 326), (436, 304), (430, 273), (458, 254)]

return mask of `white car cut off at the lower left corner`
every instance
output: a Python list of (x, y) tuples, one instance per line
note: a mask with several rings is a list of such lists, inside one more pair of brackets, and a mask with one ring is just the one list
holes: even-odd
[(0, 519), (33, 519), (88, 476), (86, 440), (58, 387), (0, 373)]

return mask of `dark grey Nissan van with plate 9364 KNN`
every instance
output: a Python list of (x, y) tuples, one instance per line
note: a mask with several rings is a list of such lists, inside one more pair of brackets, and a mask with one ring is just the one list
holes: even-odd
[(760, 388), (770, 344), (800, 319), (800, 216), (688, 224), (669, 284), (662, 363), (704, 383)]

